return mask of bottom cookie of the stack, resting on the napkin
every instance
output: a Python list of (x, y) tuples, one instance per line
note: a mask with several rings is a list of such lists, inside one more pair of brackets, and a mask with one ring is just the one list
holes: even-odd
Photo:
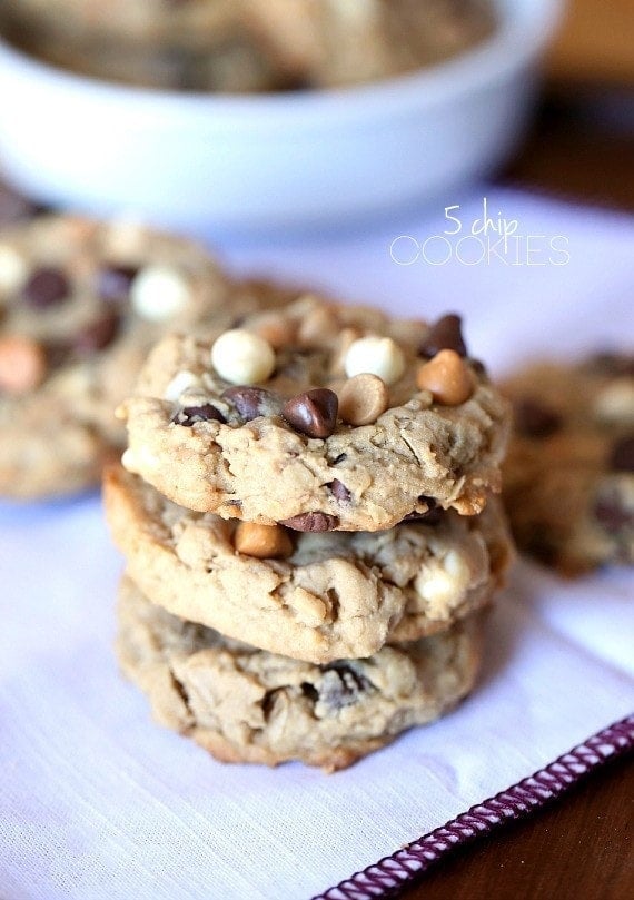
[(125, 577), (117, 651), (155, 719), (222, 762), (344, 769), (473, 688), (481, 621), (318, 666), (254, 650), (155, 606)]

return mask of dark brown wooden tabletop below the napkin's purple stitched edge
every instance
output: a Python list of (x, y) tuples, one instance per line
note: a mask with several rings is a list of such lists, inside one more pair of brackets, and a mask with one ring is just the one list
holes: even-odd
[(404, 900), (634, 897), (634, 758), (611, 763), (529, 818), (445, 857)]

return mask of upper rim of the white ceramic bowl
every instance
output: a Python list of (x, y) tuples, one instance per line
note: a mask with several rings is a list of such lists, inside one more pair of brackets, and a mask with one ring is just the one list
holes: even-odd
[(565, 0), (497, 0), (501, 21), (491, 37), (463, 53), (426, 68), (361, 85), (315, 91), (264, 93), (211, 93), (142, 88), (62, 69), (18, 50), (0, 34), (0, 71), (11, 70), (13, 78), (48, 82), (52, 90), (76, 98), (116, 105), (127, 103), (135, 113), (155, 113), (161, 118), (178, 107), (179, 118), (200, 115), (225, 116), (232, 128), (267, 126), (267, 130), (293, 123), (301, 127), (331, 120), (376, 119), (377, 108), (390, 115), (406, 115), (413, 107), (433, 107), (447, 98), (470, 93), (483, 85), (503, 79), (531, 62), (546, 47), (565, 7)]

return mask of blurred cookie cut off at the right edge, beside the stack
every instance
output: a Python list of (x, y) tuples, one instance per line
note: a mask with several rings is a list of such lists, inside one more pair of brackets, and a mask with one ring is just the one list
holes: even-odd
[(566, 575), (634, 563), (634, 356), (535, 365), (506, 390), (504, 496), (519, 548)]

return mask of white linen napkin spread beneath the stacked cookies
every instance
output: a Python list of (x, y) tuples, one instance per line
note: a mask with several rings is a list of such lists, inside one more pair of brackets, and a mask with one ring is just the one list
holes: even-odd
[[(407, 238), (397, 256), (448, 238), (456, 225), (443, 210), (365, 235), (224, 249), (240, 271), (317, 283), (398, 314), (462, 311), (472, 352), (498, 373), (534, 355), (632, 349), (634, 221), (514, 191), (487, 196), (496, 217), (518, 222), (516, 265), (495, 250), (491, 265), (456, 260), (459, 236), (446, 265), (424, 255), (397, 265), (395, 238)], [(450, 210), (460, 236), (482, 202), (481, 194)], [(532, 263), (564, 258), (554, 237), (569, 260), (525, 264), (527, 236)], [(448, 251), (438, 239), (426, 253), (434, 247)], [(472, 261), (467, 251), (488, 253), (486, 241), (462, 248)], [(489, 621), (478, 686), (446, 719), (335, 775), (222, 765), (152, 724), (145, 698), (119, 676), (121, 568), (96, 495), (0, 505), (0, 894), (10, 900), (308, 898), (634, 706), (632, 573), (562, 582), (523, 562)]]

